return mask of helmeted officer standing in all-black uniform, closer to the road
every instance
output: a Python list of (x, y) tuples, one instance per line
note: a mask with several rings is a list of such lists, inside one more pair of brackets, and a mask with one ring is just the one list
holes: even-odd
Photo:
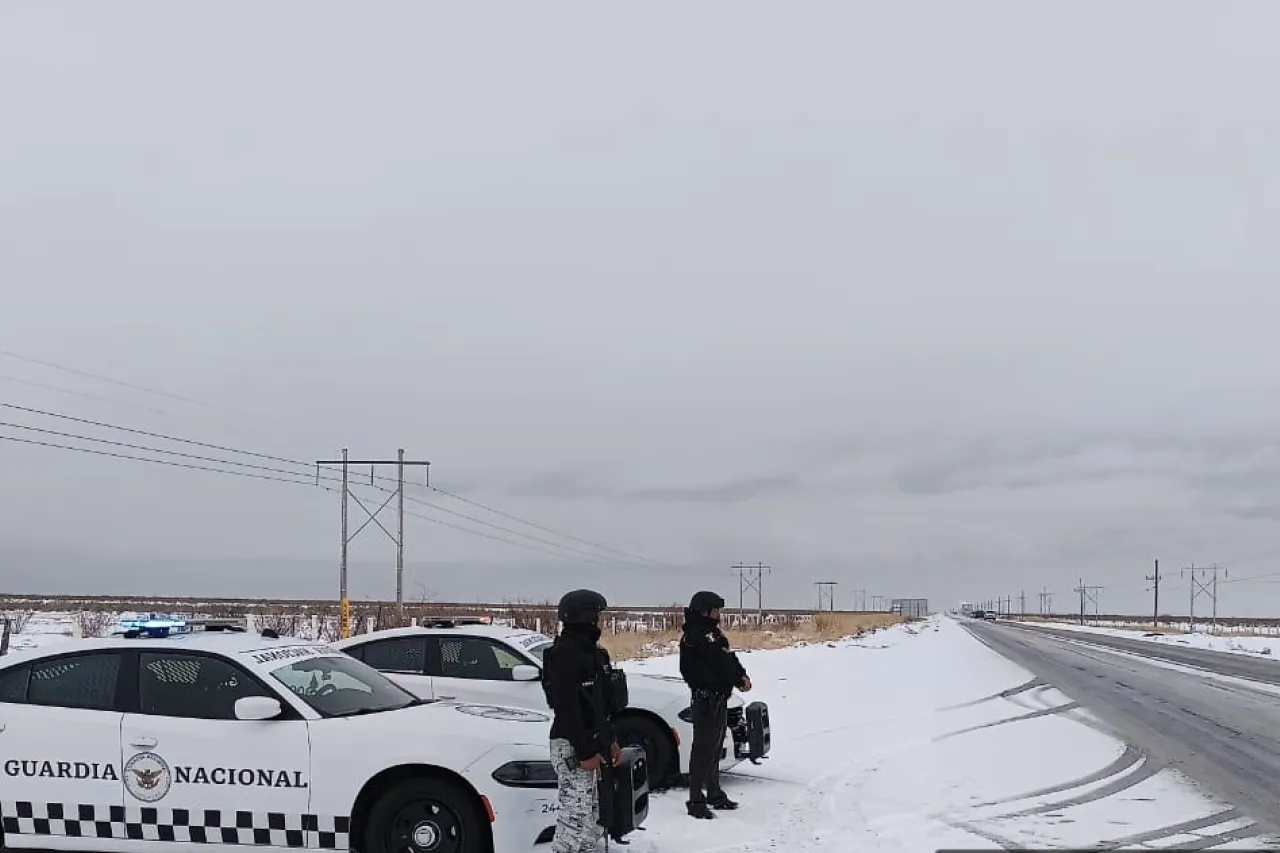
[[(719, 629), (724, 599), (713, 592), (695, 593), (685, 608), (680, 638), (680, 675), (692, 693), (694, 745), (689, 757), (689, 816), (716, 817), (710, 808), (733, 809), (737, 803), (719, 786), (719, 760), (728, 726), (728, 697), (733, 688), (751, 689), (746, 669), (730, 651)], [(710, 808), (708, 808), (708, 806)]]

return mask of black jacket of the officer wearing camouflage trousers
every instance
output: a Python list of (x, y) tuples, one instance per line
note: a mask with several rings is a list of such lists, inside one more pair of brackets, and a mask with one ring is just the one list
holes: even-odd
[(596, 646), (599, 631), (566, 625), (547, 649), (543, 679), (556, 719), (552, 738), (573, 744), (580, 760), (608, 757), (613, 731), (609, 722), (608, 654)]

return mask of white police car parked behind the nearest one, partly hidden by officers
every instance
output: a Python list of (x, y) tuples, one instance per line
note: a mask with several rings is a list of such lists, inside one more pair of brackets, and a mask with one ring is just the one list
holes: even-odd
[[(360, 634), (333, 646), (421, 697), (547, 707), (539, 684), (543, 653), (552, 646), (552, 638), (545, 634), (467, 620), (439, 620), (417, 628)], [(630, 706), (617, 719), (618, 743), (643, 747), (649, 758), (649, 785), (668, 785), (689, 772), (694, 742), (692, 725), (685, 719), (689, 688), (675, 676), (627, 672), (627, 693)], [(755, 711), (746, 715), (741, 697), (736, 693), (730, 697), (730, 726), (721, 749), (721, 770), (768, 753), (768, 708), (764, 703), (753, 706)], [(753, 740), (756, 744), (754, 756)]]

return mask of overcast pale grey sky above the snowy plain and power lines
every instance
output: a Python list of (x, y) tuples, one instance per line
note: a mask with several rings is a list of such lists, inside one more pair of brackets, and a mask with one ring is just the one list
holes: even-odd
[[(9, 0), (0, 347), (204, 405), (5, 356), (0, 401), (303, 461), (404, 447), (669, 564), (413, 489), (561, 556), (410, 519), (411, 596), (736, 598), (759, 560), (765, 603), (829, 579), (1061, 607), (1084, 578), (1146, 611), (1160, 558), (1184, 612), (1192, 561), (1280, 573), (1277, 28), (1262, 3)], [(335, 593), (333, 493), (0, 464), (3, 588)], [(394, 589), (375, 535), (356, 598)], [(1220, 612), (1277, 606), (1239, 583)]]

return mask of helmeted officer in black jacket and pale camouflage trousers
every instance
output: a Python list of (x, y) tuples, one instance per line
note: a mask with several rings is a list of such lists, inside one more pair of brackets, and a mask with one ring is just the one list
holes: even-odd
[(604, 835), (598, 780), (604, 762), (622, 758), (613, 736), (609, 658), (599, 647), (604, 596), (575, 589), (559, 601), (563, 628), (543, 656), (543, 689), (550, 704), (552, 766), (559, 780), (552, 853), (586, 853)]

